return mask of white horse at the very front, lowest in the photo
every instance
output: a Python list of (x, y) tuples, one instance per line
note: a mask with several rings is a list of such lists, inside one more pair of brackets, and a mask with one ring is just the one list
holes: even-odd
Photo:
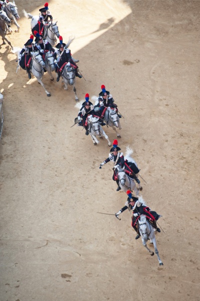
[(138, 223), (139, 223), (139, 232), (141, 235), (143, 246), (149, 251), (150, 255), (153, 256), (154, 252), (151, 251), (146, 245), (146, 242), (148, 241), (148, 239), (150, 239), (151, 242), (153, 243), (155, 254), (157, 255), (159, 261), (159, 265), (163, 265), (158, 254), (153, 226), (148, 222), (144, 214), (140, 215), (140, 219), (138, 219)]

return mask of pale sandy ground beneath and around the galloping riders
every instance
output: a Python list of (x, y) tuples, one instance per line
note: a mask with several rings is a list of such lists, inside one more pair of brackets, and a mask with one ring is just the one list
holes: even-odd
[[(43, 1), (16, 0), (23, 47)], [(2, 45), (4, 131), (1, 155), (1, 301), (200, 300), (199, 1), (49, 1), (64, 41), (80, 60), (77, 93), (112, 93), (121, 119), (119, 146), (134, 149), (142, 196), (163, 218), (160, 267), (135, 240), (131, 215), (114, 214), (116, 192), (104, 139), (74, 123), (71, 88), (44, 83), (47, 97)], [(14, 26), (12, 26), (15, 29)], [(116, 138), (106, 129), (111, 141)], [(152, 247), (151, 247), (152, 248)]]

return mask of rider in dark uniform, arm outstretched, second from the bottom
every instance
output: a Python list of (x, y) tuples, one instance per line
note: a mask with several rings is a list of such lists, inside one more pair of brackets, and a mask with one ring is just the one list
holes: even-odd
[(110, 152), (113, 152), (112, 154), (109, 154), (109, 157), (104, 160), (104, 162), (102, 162), (100, 164), (100, 166), (103, 166), (104, 164), (113, 161), (114, 162), (114, 168), (113, 168), (113, 181), (116, 181), (117, 183), (117, 191), (121, 190), (121, 187), (119, 186), (119, 180), (117, 178), (117, 172), (115, 171), (116, 168), (123, 168), (124, 167), (124, 156), (123, 153), (119, 153), (118, 151), (121, 150), (120, 147), (117, 146), (118, 145), (118, 141), (114, 140), (113, 141), (113, 147), (110, 149)]

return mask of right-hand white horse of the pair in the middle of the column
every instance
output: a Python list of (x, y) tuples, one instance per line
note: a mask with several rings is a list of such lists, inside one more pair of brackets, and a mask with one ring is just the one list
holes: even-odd
[[(97, 96), (92, 96), (91, 98), (93, 101), (95, 101), (94, 105), (97, 105), (99, 103)], [(103, 106), (103, 101), (100, 103), (101, 106)], [(104, 107), (104, 106), (103, 106)], [(112, 127), (112, 129), (116, 132), (117, 138), (121, 138), (120, 133), (117, 131), (118, 129), (121, 129), (121, 124), (119, 120), (119, 116), (117, 115), (116, 109), (111, 109), (110, 107), (107, 108), (104, 115), (104, 122), (106, 122), (107, 126)]]

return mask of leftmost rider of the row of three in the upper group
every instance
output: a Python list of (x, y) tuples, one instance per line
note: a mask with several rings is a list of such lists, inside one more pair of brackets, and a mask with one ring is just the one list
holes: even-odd
[(34, 52), (35, 45), (33, 44), (34, 36), (31, 35), (30, 39), (24, 44), (19, 56), (19, 64), (24, 70), (27, 70), (28, 77), (31, 79), (31, 52)]

